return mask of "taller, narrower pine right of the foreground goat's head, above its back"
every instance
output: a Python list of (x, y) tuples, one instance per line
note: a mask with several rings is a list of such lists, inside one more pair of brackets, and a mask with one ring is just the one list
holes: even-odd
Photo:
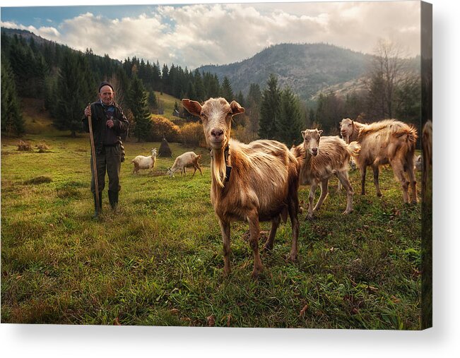
[(276, 121), (279, 116), (280, 90), (278, 78), (272, 73), (267, 81), (267, 88), (262, 93), (259, 117), (259, 137), (273, 139), (276, 136)]

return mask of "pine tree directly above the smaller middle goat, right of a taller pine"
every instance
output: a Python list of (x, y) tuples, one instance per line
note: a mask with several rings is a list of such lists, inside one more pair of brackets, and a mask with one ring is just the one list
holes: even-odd
[(276, 121), (278, 130), (274, 137), (285, 145), (298, 144), (302, 135), (302, 112), (300, 110), (300, 101), (290, 88), (284, 88), (281, 91), (280, 111)]

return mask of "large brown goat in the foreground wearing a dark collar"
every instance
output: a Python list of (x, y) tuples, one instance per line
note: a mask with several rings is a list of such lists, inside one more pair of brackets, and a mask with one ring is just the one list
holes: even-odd
[(182, 100), (191, 114), (201, 118), (206, 143), (211, 148), (211, 203), (223, 239), (224, 275), (230, 273), (230, 222), (249, 222), (249, 243), (254, 253), (255, 278), (264, 269), (259, 256), (259, 222), (271, 221), (264, 249), (273, 248), (276, 229), (288, 214), (293, 227), (290, 259), (297, 258), (299, 234), (298, 162), (277, 141), (243, 144), (230, 139), (232, 117), (243, 113), (237, 102), (210, 98), (203, 105)]

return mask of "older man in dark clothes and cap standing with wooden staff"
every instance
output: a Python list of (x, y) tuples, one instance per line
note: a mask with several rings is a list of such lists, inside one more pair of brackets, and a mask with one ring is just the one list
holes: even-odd
[[(121, 162), (124, 160), (122, 137), (126, 137), (129, 128), (128, 119), (124, 116), (122, 108), (114, 102), (114, 90), (110, 83), (102, 82), (99, 85), (99, 100), (85, 108), (83, 129), (90, 131), (88, 116), (93, 124), (93, 138), (95, 146), (96, 167), (98, 172), (99, 208), (96, 202), (96, 188), (94, 182), (94, 169), (91, 165), (91, 191), (93, 192), (95, 214), (97, 218), (102, 210), (102, 190), (105, 187), (105, 172), (109, 177), (109, 202), (112, 210), (116, 210), (118, 193), (121, 189), (119, 174)], [(93, 153), (91, 153), (91, 161)], [(98, 210), (99, 209), (99, 210)]]

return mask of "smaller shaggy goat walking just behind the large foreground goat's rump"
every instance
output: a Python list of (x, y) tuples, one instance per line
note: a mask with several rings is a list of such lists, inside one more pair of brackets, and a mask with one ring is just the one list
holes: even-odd
[[(321, 133), (322, 130), (305, 129), (302, 131), (304, 142), (291, 149), (296, 157), (305, 157), (300, 169), (300, 184), (310, 185), (307, 215), (309, 218), (313, 217), (313, 211), (321, 208), (329, 192), (329, 178), (334, 174), (347, 193), (347, 206), (343, 213), (349, 214), (353, 211), (353, 188), (348, 180), (348, 163), (351, 157), (358, 155), (360, 145), (356, 142), (347, 145), (337, 136), (321, 137)], [(320, 183), (321, 196), (313, 208), (314, 193)]]

